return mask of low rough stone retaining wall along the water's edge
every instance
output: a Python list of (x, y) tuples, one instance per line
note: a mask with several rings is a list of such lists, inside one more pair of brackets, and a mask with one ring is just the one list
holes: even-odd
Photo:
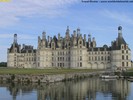
[(89, 72), (89, 73), (72, 73), (72, 74), (57, 74), (57, 75), (0, 75), (0, 81), (9, 82), (35, 82), (35, 83), (51, 83), (59, 81), (67, 81), (81, 79), (86, 77), (99, 76), (104, 72)]

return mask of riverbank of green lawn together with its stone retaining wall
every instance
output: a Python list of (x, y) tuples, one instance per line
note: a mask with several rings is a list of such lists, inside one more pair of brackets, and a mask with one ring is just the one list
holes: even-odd
[(1, 68), (0, 81), (52, 83), (99, 76), (104, 71), (92, 69), (16, 69)]

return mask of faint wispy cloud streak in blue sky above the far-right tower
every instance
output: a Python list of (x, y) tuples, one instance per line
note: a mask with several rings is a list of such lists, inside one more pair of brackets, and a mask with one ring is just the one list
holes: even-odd
[(133, 25), (133, 17), (126, 12), (115, 12), (104, 10), (101, 12), (104, 16), (114, 19), (116, 21)]

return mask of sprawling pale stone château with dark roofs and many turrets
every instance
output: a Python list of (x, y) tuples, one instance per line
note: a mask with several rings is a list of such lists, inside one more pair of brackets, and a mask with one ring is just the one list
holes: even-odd
[(53, 38), (46, 32), (38, 37), (38, 47), (17, 43), (17, 34), (7, 53), (8, 67), (17, 68), (128, 68), (131, 67), (131, 50), (122, 36), (122, 27), (118, 27), (118, 37), (111, 46), (96, 46), (95, 38), (86, 34), (82, 37), (80, 29), (70, 36), (67, 27), (65, 37)]

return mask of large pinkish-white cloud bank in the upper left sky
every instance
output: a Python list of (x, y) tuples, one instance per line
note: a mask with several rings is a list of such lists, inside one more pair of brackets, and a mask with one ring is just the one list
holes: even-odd
[(0, 27), (20, 21), (20, 17), (64, 15), (65, 9), (78, 0), (11, 0), (0, 3)]

